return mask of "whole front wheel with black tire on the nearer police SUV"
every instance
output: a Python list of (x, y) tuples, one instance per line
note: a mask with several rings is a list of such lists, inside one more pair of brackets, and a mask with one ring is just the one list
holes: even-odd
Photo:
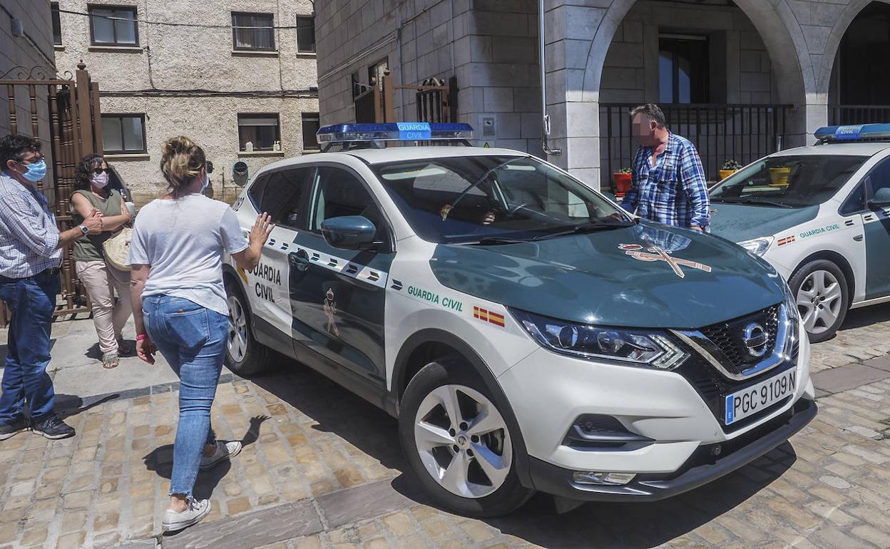
[(455, 513), (504, 515), (534, 493), (520, 483), (515, 436), (496, 400), (457, 360), (431, 362), (411, 379), (401, 399), (399, 437), (426, 493)]

